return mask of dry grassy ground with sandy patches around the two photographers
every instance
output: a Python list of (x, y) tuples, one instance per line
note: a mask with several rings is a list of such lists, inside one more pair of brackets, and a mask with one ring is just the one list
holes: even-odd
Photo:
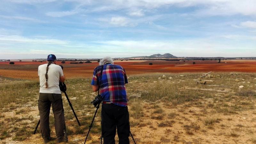
[[(163, 134), (152, 139), (151, 143), (159, 141), (169, 143), (172, 140), (187, 143), (189, 140), (186, 139), (186, 136), (197, 139), (203, 136), (202, 132), (212, 135), (217, 134), (215, 131), (223, 128), (228, 132), (225, 135), (222, 134), (223, 137), (220, 139), (243, 138), (240, 133), (232, 132), (230, 127), (245, 131), (250, 124), (250, 122), (243, 123), (243, 125), (239, 124), (234, 116), (245, 117), (245, 120), (247, 120), (246, 116), (242, 116), (243, 112), (255, 110), (256, 95), (253, 89), (256, 86), (252, 80), (254, 78), (253, 74), (213, 73), (209, 78), (204, 78), (213, 80), (213, 82), (206, 85), (196, 84), (196, 81), (193, 80), (201, 75), (199, 73), (164, 75), (165, 77), (162, 77), (162, 73), (129, 76), (129, 84), (126, 85), (126, 89), (129, 98), (131, 132), (136, 137), (140, 137), (141, 143), (150, 143), (143, 139), (145, 137), (144, 133), (147, 133), (148, 129), (152, 132), (164, 129), (164, 132), (170, 133), (171, 136)], [(180, 77), (179, 75), (185, 76)], [(172, 77), (172, 79), (169, 79), (169, 77)], [(235, 81), (237, 78), (243, 78), (244, 81), (241, 79)], [(250, 83), (247, 83), (247, 81), (250, 81)], [(70, 143), (77, 143), (75, 141), (77, 137), (83, 141), (96, 110), (90, 104), (96, 95), (91, 90), (90, 82), (90, 79), (70, 79), (66, 81), (68, 97), (82, 124), (80, 127), (77, 125), (71, 108), (64, 94), (62, 94)], [(244, 85), (244, 89), (238, 89), (240, 85)], [(227, 90), (229, 93), (187, 90), (185, 87)], [(39, 84), (36, 81), (12, 81), (0, 84), (0, 93), (3, 94), (0, 97), (0, 139), (2, 141), (8, 138), (11, 138), (14, 142), (26, 141), (27, 139), (28, 143), (33, 141), (30, 139), (33, 136), (31, 132), (39, 118), (37, 109), (38, 89)], [(141, 97), (129, 97), (132, 94), (139, 94)], [(98, 138), (101, 132), (100, 112), (99, 109), (90, 133), (89, 140), (92, 143), (99, 143)], [(230, 125), (231, 122), (234, 124)], [(52, 114), (50, 116), (50, 126), (51, 133), (54, 133)], [(144, 132), (144, 129), (147, 131)], [(194, 143), (214, 143), (211, 139), (202, 139), (204, 140), (201, 140), (201, 142), (194, 141)], [(255, 139), (252, 137), (247, 140), (255, 143)]]

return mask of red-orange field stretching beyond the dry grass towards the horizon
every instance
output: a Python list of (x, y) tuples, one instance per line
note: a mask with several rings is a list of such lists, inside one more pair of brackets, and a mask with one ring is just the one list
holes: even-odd
[[(196, 64), (193, 64), (195, 62)], [(37, 68), (45, 62), (0, 62), (0, 76), (38, 79)], [(256, 60), (223, 60), (220, 63), (216, 60), (185, 60), (184, 61), (114, 61), (115, 64), (124, 67), (127, 75), (143, 73), (183, 73), (183, 72), (256, 72)], [(153, 63), (153, 65), (149, 65)], [(57, 62), (60, 65), (60, 61)], [(63, 65), (66, 78), (88, 78), (92, 76), (93, 69), (98, 66), (98, 62)]]

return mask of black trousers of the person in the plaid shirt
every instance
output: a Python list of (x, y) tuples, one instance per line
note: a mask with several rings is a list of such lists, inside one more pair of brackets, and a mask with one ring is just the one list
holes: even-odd
[(130, 124), (127, 107), (102, 104), (101, 130), (104, 144), (115, 144), (116, 128), (119, 144), (129, 144)]

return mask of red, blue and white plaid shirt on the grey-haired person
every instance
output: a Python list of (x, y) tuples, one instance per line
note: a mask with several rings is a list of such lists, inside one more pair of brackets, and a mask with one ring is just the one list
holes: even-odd
[(101, 66), (94, 68), (92, 85), (99, 85), (102, 101), (126, 107), (127, 96), (124, 84), (128, 83), (124, 68), (119, 65), (106, 64), (100, 76)]

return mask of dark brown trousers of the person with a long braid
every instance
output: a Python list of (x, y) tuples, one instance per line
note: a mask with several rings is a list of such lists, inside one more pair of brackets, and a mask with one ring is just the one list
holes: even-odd
[(39, 93), (40, 131), (44, 140), (50, 139), (49, 114), (51, 105), (56, 136), (58, 139), (62, 139), (64, 137), (65, 118), (61, 94)]

